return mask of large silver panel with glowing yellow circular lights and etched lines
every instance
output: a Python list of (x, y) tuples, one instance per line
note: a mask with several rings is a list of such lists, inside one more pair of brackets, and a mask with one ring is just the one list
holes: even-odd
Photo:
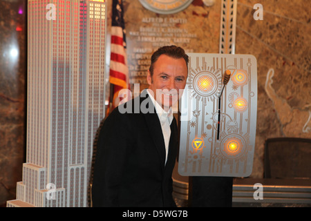
[[(189, 53), (187, 86), (180, 101), (178, 173), (247, 177), (252, 173), (257, 115), (257, 62), (253, 55)], [(225, 70), (231, 77), (220, 105)]]

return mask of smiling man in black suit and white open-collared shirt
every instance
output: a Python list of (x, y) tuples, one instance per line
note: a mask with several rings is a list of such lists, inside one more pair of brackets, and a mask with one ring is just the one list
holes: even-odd
[(171, 107), (185, 88), (187, 64), (182, 48), (159, 48), (151, 57), (149, 88), (105, 119), (97, 140), (93, 206), (176, 206), (171, 175), (178, 130)]

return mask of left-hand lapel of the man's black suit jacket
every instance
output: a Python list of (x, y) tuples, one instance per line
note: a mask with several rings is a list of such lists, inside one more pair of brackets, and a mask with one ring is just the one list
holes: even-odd
[[(146, 97), (141, 97), (140, 104), (142, 104), (142, 101), (144, 99), (150, 99), (148, 94), (146, 95)], [(151, 99), (147, 104), (153, 106)], [(150, 108), (149, 108), (149, 110), (150, 110)], [(144, 114), (144, 117), (146, 119), (147, 126), (149, 128), (150, 133), (151, 133), (152, 140), (153, 140), (153, 142), (157, 148), (157, 151), (159, 153), (161, 168), (162, 168), (162, 170), (164, 170), (165, 144), (164, 144), (164, 137), (162, 134), (162, 128), (161, 128), (161, 124), (160, 124), (160, 119), (158, 117), (158, 114), (156, 113), (156, 108), (154, 108), (154, 106), (153, 106), (153, 113)]]

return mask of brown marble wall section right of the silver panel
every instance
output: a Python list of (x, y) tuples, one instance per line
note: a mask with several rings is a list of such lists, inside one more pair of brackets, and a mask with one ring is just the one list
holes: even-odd
[[(236, 53), (258, 62), (256, 154), (252, 176), (263, 175), (263, 144), (270, 137), (311, 138), (311, 1), (239, 0)], [(310, 159), (311, 160), (311, 159)]]

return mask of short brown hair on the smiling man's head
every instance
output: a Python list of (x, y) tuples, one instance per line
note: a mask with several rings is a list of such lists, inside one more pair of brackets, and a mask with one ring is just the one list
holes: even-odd
[(163, 46), (161, 48), (158, 48), (158, 50), (156, 50), (155, 52), (153, 52), (153, 55), (151, 56), (151, 65), (149, 68), (151, 77), (153, 75), (154, 63), (156, 63), (156, 61), (158, 61), (158, 58), (160, 57), (160, 55), (167, 55), (169, 57), (173, 57), (176, 59), (183, 58), (183, 59), (185, 59), (186, 64), (187, 64), (187, 68), (188, 68), (189, 57), (185, 53), (184, 49), (182, 49), (178, 46)]

